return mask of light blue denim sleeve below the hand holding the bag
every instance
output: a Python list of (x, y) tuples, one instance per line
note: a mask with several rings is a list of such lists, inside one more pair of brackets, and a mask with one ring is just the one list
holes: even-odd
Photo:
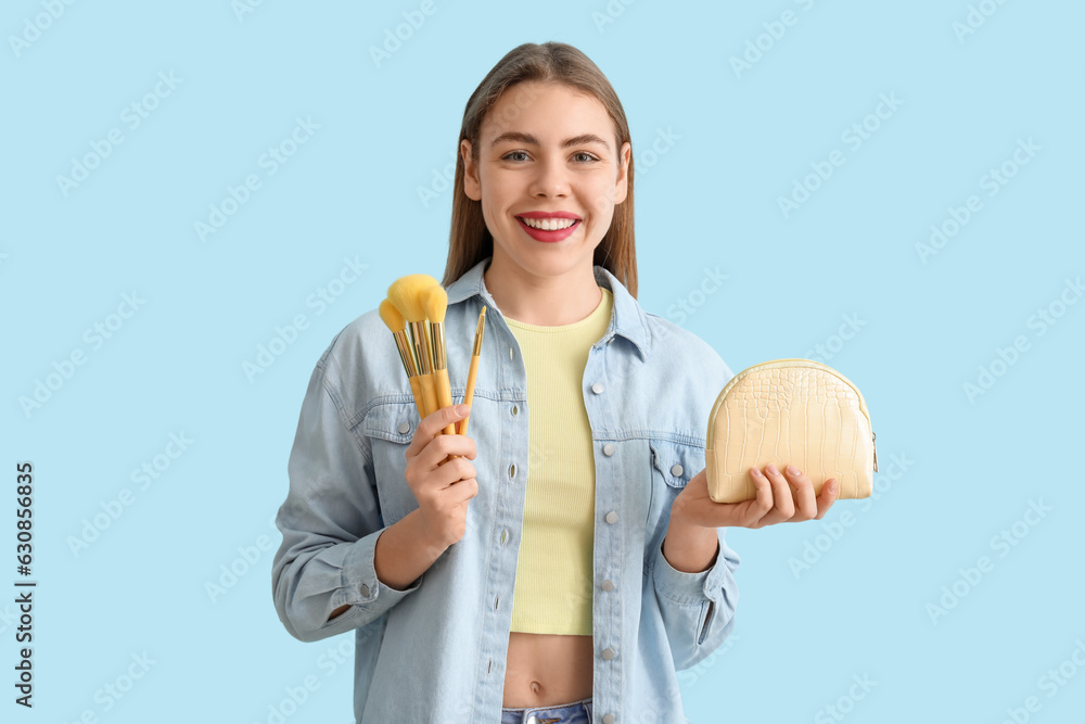
[(655, 549), (652, 581), (676, 671), (707, 657), (735, 627), (739, 589), (733, 574), (740, 559), (724, 541), (724, 530), (716, 529), (719, 547), (707, 571), (679, 571), (667, 562), (662, 542)]

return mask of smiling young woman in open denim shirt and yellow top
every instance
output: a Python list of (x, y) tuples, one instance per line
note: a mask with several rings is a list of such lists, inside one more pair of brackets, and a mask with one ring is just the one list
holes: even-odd
[(441, 434), (462, 405), (418, 419), (376, 310), (342, 330), (290, 456), (279, 617), (355, 631), (360, 724), (681, 724), (676, 671), (735, 624), (724, 529), (821, 518), (834, 484), (769, 466), (755, 500), (709, 498), (732, 374), (636, 301), (629, 129), (590, 60), (512, 50), (460, 139), (442, 283), (457, 402), (487, 307), (469, 432)]

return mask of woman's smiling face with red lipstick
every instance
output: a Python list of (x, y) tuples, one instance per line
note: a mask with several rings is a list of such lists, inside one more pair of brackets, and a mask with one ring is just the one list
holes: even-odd
[[(492, 267), (523, 279), (576, 270), (591, 277), (595, 249), (626, 198), (630, 145), (592, 96), (525, 81), (506, 89), (482, 124), (477, 164), (461, 142), (464, 192), (482, 202)], [(624, 163), (623, 163), (624, 160)]]

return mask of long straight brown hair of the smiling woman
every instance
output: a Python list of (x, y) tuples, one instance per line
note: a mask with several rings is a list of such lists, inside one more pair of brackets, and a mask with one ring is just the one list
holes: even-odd
[[(556, 81), (586, 92), (599, 100), (614, 122), (617, 134), (617, 150), (633, 139), (625, 111), (610, 80), (583, 52), (564, 42), (525, 42), (509, 51), (498, 61), (471, 94), (463, 111), (460, 140), (457, 141), (456, 182), (452, 194), (452, 225), (448, 240), (448, 259), (445, 263), (447, 287), (459, 279), (464, 271), (494, 254), (494, 238), (486, 228), (482, 215), (482, 202), (470, 199), (463, 192), (463, 156), (459, 145), (463, 139), (471, 141), (472, 158), (478, 161), (478, 136), (483, 120), (490, 107), (506, 90), (527, 81)], [(518, 103), (518, 107), (520, 104)], [(515, 112), (513, 112), (515, 113)], [(629, 157), (628, 191), (623, 201), (614, 206), (614, 217), (602, 241), (596, 246), (593, 264), (604, 267), (637, 296), (637, 250), (633, 233), (633, 154)]]

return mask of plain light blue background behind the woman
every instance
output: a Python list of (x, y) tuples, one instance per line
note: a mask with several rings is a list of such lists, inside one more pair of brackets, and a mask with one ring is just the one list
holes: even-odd
[[(55, 18), (48, 0), (5, 4), (2, 459), (8, 506), (15, 462), (34, 463), (38, 587), (33, 711), (12, 702), (16, 611), (0, 605), (3, 720), (268, 722), (311, 677), (286, 721), (352, 721), (353, 636), (294, 640), (271, 599), (307, 380), (394, 279), (442, 277), (452, 192), (435, 175), (468, 97), (516, 45), (561, 40), (607, 74), (630, 120), (643, 307), (736, 372), (829, 364), (878, 434), (872, 499), (728, 532), (737, 627), (679, 673), (690, 720), (1000, 722), (1035, 697), (1030, 721), (1078, 721), (1085, 304), (1068, 302), (1085, 271), (1085, 7), (433, 1), (380, 64), (369, 48), (420, 3), (58, 2)], [(755, 62), (736, 69), (744, 53)], [(159, 74), (178, 80), (155, 97)], [(879, 118), (882, 94), (896, 107)], [(269, 174), (261, 154), (298, 119), (319, 128)], [(864, 123), (856, 148), (845, 134)], [(112, 129), (123, 142), (62, 188)], [(779, 199), (833, 151), (843, 164), (784, 214)], [(1004, 164), (1014, 175), (990, 195)], [(201, 239), (195, 224), (251, 174), (260, 187)], [(923, 256), (931, 226), (973, 194), (980, 211)], [(310, 304), (344, 258), (368, 266), (333, 304)], [(726, 281), (705, 283), (706, 269)], [(138, 309), (111, 317), (133, 293)], [(246, 376), (299, 314), (307, 328)], [(116, 329), (95, 342), (95, 323)], [(1019, 336), (1026, 347), (1006, 352)], [(76, 351), (84, 364), (24, 409)], [(171, 433), (192, 441), (176, 458)], [(156, 456), (141, 488), (132, 471)], [(111, 506), (125, 488), (131, 505)], [(244, 572), (208, 593), (231, 566)], [(153, 663), (106, 696), (133, 656)]]

